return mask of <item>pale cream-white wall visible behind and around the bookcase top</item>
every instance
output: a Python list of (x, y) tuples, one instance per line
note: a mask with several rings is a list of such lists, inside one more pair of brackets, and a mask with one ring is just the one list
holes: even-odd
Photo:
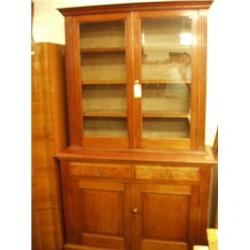
[[(213, 145), (218, 124), (216, 112), (216, 16), (221, 10), (217, 1), (208, 13), (208, 69), (207, 69), (207, 110), (206, 110), (206, 144)], [(52, 42), (65, 44), (64, 17), (57, 8), (103, 5), (132, 2), (160, 2), (152, 0), (34, 0), (33, 38), (35, 42)], [(164, 1), (162, 1), (164, 2)], [(219, 6), (219, 7), (218, 7)]]

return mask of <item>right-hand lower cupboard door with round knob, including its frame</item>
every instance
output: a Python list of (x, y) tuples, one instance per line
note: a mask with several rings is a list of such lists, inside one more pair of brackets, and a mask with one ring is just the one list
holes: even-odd
[(199, 186), (135, 184), (134, 249), (192, 249), (198, 202)]

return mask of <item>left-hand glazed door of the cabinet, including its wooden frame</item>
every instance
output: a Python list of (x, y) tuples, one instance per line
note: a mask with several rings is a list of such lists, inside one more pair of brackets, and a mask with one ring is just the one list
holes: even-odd
[(72, 85), (80, 100), (72, 100), (78, 105), (72, 103), (69, 112), (73, 116), (79, 107), (75, 122), (81, 131), (80, 143), (84, 147), (128, 147), (132, 124), (129, 15), (86, 15), (75, 20), (78, 67)]

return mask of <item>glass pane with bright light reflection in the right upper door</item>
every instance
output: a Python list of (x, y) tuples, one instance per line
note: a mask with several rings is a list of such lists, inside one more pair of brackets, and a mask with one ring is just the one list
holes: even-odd
[(192, 19), (143, 19), (143, 138), (189, 137)]

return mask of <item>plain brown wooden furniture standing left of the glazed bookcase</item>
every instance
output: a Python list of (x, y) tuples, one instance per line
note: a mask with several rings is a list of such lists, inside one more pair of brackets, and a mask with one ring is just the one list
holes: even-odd
[(63, 47), (33, 43), (32, 51), (32, 249), (63, 244), (58, 164), (67, 143)]

